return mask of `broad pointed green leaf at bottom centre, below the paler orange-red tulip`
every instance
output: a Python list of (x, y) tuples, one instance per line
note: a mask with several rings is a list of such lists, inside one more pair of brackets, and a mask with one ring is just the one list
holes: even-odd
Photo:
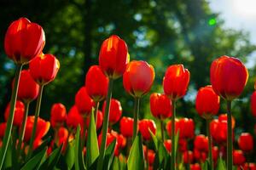
[(138, 133), (133, 141), (131, 151), (127, 161), (128, 170), (141, 170), (144, 168), (143, 156), (143, 139), (142, 135)]

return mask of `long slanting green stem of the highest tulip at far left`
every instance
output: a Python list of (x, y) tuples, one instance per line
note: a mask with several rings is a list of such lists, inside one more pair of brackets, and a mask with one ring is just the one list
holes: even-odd
[(15, 83), (14, 88), (12, 91), (12, 96), (10, 100), (10, 110), (9, 110), (9, 117), (6, 125), (5, 134), (3, 137), (3, 145), (2, 149), (0, 150), (0, 169), (3, 167), (3, 161), (6, 156), (6, 151), (9, 145), (9, 139), (12, 132), (13, 122), (14, 122), (14, 116), (15, 116), (15, 105), (17, 100), (17, 93), (19, 88), (19, 82), (20, 82), (20, 71), (22, 70), (22, 65), (18, 64), (16, 71), (15, 71)]

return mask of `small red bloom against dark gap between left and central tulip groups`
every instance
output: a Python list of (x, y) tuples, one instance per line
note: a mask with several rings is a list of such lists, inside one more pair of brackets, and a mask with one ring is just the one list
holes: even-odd
[(56, 103), (51, 106), (50, 110), (50, 124), (52, 127), (61, 127), (61, 125), (66, 122), (67, 111), (65, 105), (61, 103)]

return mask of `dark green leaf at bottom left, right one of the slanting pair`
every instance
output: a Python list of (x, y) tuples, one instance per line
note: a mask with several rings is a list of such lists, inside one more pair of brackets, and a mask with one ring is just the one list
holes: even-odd
[(55, 149), (49, 157), (44, 161), (44, 164), (40, 167), (40, 169), (53, 169), (57, 162), (60, 159), (61, 156), (61, 150), (62, 150), (63, 144), (61, 144), (61, 147)]

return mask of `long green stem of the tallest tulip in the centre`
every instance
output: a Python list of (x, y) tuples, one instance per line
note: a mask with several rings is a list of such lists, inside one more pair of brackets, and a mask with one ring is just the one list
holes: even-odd
[(113, 88), (113, 78), (109, 77), (108, 95), (106, 99), (106, 108), (104, 111), (105, 114), (104, 114), (103, 127), (102, 127), (102, 144), (100, 149), (99, 160), (97, 162), (97, 170), (102, 170), (102, 167), (103, 167), (105, 148), (106, 148), (106, 139), (107, 139), (107, 133), (108, 133), (108, 117), (109, 117), (110, 100), (112, 97), (112, 88)]

